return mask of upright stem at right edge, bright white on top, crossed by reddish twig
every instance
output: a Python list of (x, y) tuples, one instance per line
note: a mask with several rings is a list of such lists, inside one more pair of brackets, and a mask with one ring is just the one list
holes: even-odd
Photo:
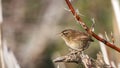
[[(119, 45), (120, 42), (120, 0), (111, 0), (111, 4), (112, 4), (112, 7), (113, 7), (113, 27), (114, 27), (114, 38), (115, 38), (115, 44), (116, 45)], [(120, 46), (120, 45), (119, 45)], [(114, 52), (114, 62), (116, 63), (116, 68), (119, 68), (120, 66), (119, 63), (120, 63), (120, 60), (118, 60), (120, 58), (120, 55), (116, 52)], [(114, 64), (113, 62), (113, 64)], [(115, 67), (114, 67), (115, 68)]]

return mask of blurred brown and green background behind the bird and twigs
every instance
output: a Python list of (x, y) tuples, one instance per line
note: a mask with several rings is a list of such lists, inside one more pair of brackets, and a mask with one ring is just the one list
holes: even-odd
[[(74, 0), (72, 4), (88, 27), (94, 18), (96, 34), (106, 32), (111, 37), (113, 32), (115, 44), (119, 44), (120, 34), (111, 0)], [(67, 28), (84, 31), (71, 12), (65, 10), (64, 0), (3, 0), (2, 7), (3, 39), (21, 68), (56, 68), (58, 64), (60, 68), (80, 68), (74, 63), (52, 62), (69, 52), (58, 33)], [(85, 53), (96, 59), (100, 46), (94, 40)], [(109, 47), (107, 52), (110, 60), (120, 62), (118, 52)]]

